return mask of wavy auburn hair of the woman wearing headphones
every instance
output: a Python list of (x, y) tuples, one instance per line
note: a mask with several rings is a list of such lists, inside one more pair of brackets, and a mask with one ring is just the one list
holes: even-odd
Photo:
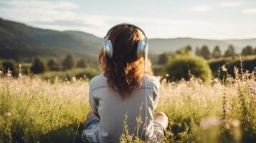
[(137, 58), (138, 40), (143, 40), (145, 37), (133, 26), (123, 25), (113, 29), (108, 39), (113, 44), (113, 56), (112, 58), (104, 57), (101, 49), (100, 66), (103, 69), (103, 75), (107, 77), (108, 86), (115, 92), (119, 92), (124, 99), (133, 92), (133, 89), (141, 87), (145, 61), (145, 74), (153, 74), (148, 57), (145, 61), (143, 58)]

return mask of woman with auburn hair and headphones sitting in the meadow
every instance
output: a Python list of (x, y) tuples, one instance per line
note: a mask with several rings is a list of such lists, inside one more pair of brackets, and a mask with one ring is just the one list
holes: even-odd
[(138, 26), (118, 24), (108, 31), (99, 55), (104, 73), (90, 81), (93, 111), (86, 117), (84, 142), (119, 142), (124, 124), (129, 134), (161, 141), (168, 118), (163, 112), (153, 115), (160, 84), (152, 75), (146, 49), (146, 35)]

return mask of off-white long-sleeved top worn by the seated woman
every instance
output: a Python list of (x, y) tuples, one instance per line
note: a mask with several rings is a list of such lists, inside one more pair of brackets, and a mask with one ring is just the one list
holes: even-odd
[[(146, 87), (144, 84), (146, 78)], [(140, 126), (138, 137), (145, 139), (145, 132), (142, 129), (147, 129), (147, 139), (153, 139), (153, 110), (156, 109), (159, 99), (160, 83), (157, 77), (145, 75), (142, 79), (142, 86), (133, 90), (131, 96), (124, 100), (118, 92), (114, 92), (107, 84), (107, 78), (103, 74), (94, 77), (90, 81), (90, 106), (93, 112), (100, 117), (98, 137), (100, 142), (119, 142), (120, 135), (123, 133), (123, 121), (125, 114), (128, 119), (129, 134), (136, 134), (136, 117), (141, 114), (143, 123)], [(147, 96), (147, 123), (143, 128), (146, 119), (146, 96)], [(140, 107), (142, 109), (140, 112)], [(144, 130), (143, 130), (144, 131)]]

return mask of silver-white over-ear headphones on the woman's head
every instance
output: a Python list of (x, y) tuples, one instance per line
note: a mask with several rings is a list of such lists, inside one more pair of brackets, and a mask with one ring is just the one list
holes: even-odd
[(141, 57), (143, 57), (145, 59), (147, 54), (148, 54), (148, 38), (146, 37), (145, 32), (141, 28), (139, 28), (138, 26), (135, 26), (133, 24), (126, 24), (126, 23), (115, 25), (115, 26), (113, 26), (112, 28), (110, 28), (108, 30), (108, 33), (104, 37), (104, 41), (103, 41), (103, 55), (104, 55), (104, 57), (108, 57), (110, 59), (113, 57), (113, 51), (114, 51), (113, 44), (108, 39), (108, 36), (115, 28), (120, 27), (120, 26), (133, 26), (133, 28), (136, 28), (136, 29), (138, 29), (142, 32), (142, 34), (145, 36), (145, 41), (143, 41), (143, 40), (138, 41), (137, 58), (140, 59)]

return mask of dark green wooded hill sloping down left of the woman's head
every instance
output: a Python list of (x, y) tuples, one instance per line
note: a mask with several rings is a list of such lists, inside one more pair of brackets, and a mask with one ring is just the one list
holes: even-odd
[(91, 34), (37, 29), (4, 19), (0, 19), (0, 35), (0, 57), (4, 59), (62, 58), (69, 52), (90, 58), (95, 57), (101, 44), (100, 38)]

